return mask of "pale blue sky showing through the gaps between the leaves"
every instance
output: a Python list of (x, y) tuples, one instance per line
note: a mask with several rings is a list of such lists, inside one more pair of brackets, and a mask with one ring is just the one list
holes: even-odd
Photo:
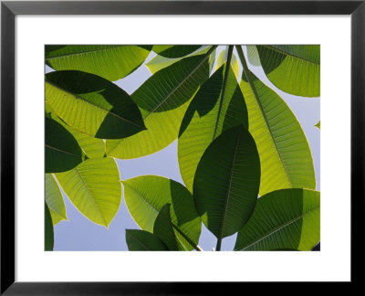
[[(219, 47), (219, 50), (225, 47)], [(147, 61), (154, 57), (151, 52)], [(308, 143), (312, 152), (315, 171), (317, 176), (317, 190), (320, 190), (320, 161), (319, 150), (320, 132), (314, 125), (319, 121), (320, 102), (319, 99), (300, 98), (288, 95), (266, 79), (261, 68), (249, 65), (255, 75), (264, 81), (267, 86), (276, 92), (287, 102), (287, 105), (297, 116), (303, 131), (306, 133)], [(46, 71), (49, 72), (46, 66)], [(144, 80), (151, 76), (149, 69), (142, 65), (128, 77), (120, 79), (115, 83), (128, 93), (143, 83)], [(125, 180), (142, 174), (157, 174), (171, 178), (183, 184), (183, 179), (179, 171), (177, 160), (177, 141), (164, 148), (162, 151), (131, 160), (116, 159), (120, 169), (120, 179)], [(122, 199), (120, 210), (116, 217), (110, 223), (109, 229), (96, 225), (84, 217), (78, 209), (71, 204), (63, 193), (68, 221), (61, 221), (55, 227), (55, 247), (54, 250), (128, 250), (125, 242), (125, 229), (140, 228), (130, 217), (127, 206)], [(232, 250), (235, 246), (236, 235), (224, 238), (222, 241), (222, 250)], [(212, 250), (216, 245), (216, 238), (204, 226), (199, 246), (203, 250)]]

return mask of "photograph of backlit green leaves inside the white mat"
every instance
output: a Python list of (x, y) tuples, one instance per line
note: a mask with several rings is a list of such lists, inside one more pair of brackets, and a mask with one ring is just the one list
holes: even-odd
[(44, 49), (45, 250), (320, 250), (320, 45)]

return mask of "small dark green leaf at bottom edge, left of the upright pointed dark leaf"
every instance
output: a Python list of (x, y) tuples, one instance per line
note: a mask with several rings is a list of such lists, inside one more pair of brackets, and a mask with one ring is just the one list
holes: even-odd
[(160, 238), (145, 230), (126, 229), (126, 241), (130, 251), (168, 250)]

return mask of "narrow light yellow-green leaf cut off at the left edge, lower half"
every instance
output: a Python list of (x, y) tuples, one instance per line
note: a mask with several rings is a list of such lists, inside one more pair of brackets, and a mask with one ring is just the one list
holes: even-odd
[(46, 174), (46, 203), (52, 217), (53, 225), (67, 220), (66, 207), (57, 182), (52, 174)]

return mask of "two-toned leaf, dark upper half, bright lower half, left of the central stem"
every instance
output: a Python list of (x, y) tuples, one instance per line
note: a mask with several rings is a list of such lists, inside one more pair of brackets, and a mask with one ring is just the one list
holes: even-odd
[(141, 109), (147, 130), (121, 140), (108, 140), (107, 155), (120, 159), (155, 153), (177, 139), (189, 101), (208, 79), (208, 58), (183, 58), (158, 71), (132, 94)]

